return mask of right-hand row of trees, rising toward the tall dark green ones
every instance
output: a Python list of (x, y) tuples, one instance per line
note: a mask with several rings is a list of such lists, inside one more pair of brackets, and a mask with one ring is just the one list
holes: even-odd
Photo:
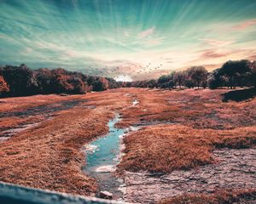
[(126, 83), (137, 88), (235, 88), (256, 87), (256, 61), (230, 60), (221, 68), (208, 72), (203, 66), (192, 66), (185, 71), (172, 71), (158, 80)]

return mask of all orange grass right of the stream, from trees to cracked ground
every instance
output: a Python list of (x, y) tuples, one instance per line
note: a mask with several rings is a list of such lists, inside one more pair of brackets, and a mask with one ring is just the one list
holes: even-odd
[[(119, 126), (149, 126), (125, 137), (119, 170), (170, 173), (215, 162), (215, 148), (256, 144), (256, 99), (222, 102), (225, 89), (132, 90), (140, 103), (123, 111)], [(150, 126), (150, 122), (170, 124)]]

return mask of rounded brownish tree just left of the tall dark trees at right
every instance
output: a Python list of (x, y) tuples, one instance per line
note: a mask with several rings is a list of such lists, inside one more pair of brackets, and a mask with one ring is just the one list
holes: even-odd
[(208, 71), (203, 66), (192, 66), (187, 70), (189, 79), (199, 88), (202, 82), (207, 82)]

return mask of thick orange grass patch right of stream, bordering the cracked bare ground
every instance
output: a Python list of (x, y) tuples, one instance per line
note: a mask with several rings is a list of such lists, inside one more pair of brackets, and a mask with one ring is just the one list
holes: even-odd
[(215, 162), (212, 150), (256, 144), (256, 126), (232, 130), (194, 129), (182, 125), (145, 127), (125, 137), (120, 170), (171, 173)]

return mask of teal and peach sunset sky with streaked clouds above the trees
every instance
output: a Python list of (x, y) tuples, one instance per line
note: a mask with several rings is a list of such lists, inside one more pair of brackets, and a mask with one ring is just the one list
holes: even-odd
[(0, 0), (0, 65), (119, 81), (256, 59), (256, 0)]

